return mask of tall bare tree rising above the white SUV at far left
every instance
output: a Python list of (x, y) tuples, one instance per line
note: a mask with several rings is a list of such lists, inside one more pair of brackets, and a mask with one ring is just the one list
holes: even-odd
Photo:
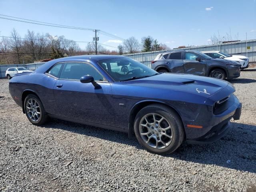
[(20, 39), (20, 35), (18, 32), (13, 29), (11, 32), (11, 39), (10, 39), (10, 48), (12, 52), (16, 54), (16, 61), (21, 64), (21, 49), (22, 49), (22, 40)]

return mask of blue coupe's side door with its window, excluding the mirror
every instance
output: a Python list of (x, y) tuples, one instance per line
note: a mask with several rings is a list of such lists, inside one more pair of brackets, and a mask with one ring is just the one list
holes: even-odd
[[(60, 78), (54, 85), (56, 115), (115, 126), (110, 83), (89, 63), (67, 62), (63, 65)], [(80, 78), (84, 75), (93, 76), (98, 87), (81, 83)]]

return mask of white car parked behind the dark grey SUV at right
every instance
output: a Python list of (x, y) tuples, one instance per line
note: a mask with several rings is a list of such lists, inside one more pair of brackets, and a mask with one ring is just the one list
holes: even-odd
[(229, 55), (220, 51), (201, 51), (201, 52), (214, 59), (221, 58), (221, 59), (239, 62), (241, 65), (240, 67), (241, 69), (245, 69), (249, 67), (249, 58), (243, 55)]

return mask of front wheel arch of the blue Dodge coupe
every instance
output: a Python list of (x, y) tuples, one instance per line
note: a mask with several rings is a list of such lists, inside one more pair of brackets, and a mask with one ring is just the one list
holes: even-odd
[[(142, 100), (142, 101), (139, 101), (136, 104), (134, 104), (134, 106), (132, 106), (132, 109), (130, 110), (130, 119), (129, 119), (129, 125), (128, 125), (128, 137), (129, 138), (131, 138), (132, 135), (134, 134), (134, 121), (135, 121), (136, 115), (142, 108), (144, 108), (150, 104), (161, 104), (161, 105), (164, 105), (164, 106), (174, 110), (174, 112), (176, 112), (176, 114), (180, 118), (180, 121), (182, 122), (182, 125), (184, 128), (184, 123), (182, 121), (181, 115), (178, 112), (178, 110), (176, 110), (173, 106), (170, 106), (170, 105), (166, 104), (165, 102), (158, 101), (158, 100)], [(184, 134), (185, 134), (185, 138), (186, 138), (185, 130), (184, 130)]]

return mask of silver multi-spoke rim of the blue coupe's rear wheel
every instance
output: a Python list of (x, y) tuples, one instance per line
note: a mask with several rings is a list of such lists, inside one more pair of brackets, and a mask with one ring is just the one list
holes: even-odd
[(26, 112), (32, 121), (37, 122), (40, 119), (40, 106), (38, 102), (32, 98), (28, 99), (26, 103)]

